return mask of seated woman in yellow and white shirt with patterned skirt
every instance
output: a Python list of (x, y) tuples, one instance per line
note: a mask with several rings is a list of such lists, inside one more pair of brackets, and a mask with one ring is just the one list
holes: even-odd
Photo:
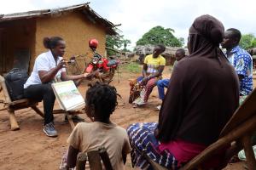
[(160, 55), (165, 50), (165, 46), (156, 45), (153, 54), (147, 55), (144, 59), (143, 76), (137, 78), (137, 82), (143, 85), (144, 88), (140, 92), (139, 97), (132, 102), (134, 107), (145, 105), (147, 103), (149, 94), (151, 94), (155, 83), (158, 81), (165, 68), (166, 59)]

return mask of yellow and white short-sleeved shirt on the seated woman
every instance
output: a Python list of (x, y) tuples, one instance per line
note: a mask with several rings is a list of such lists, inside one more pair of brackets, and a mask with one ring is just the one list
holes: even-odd
[(166, 59), (159, 55), (157, 58), (153, 57), (153, 54), (149, 54), (144, 59), (144, 64), (148, 65), (148, 74), (154, 74), (158, 71), (160, 65), (166, 65)]

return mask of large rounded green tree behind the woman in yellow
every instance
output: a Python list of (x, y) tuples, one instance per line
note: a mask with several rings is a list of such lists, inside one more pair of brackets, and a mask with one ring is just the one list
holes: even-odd
[(182, 47), (183, 42), (174, 37), (174, 30), (172, 28), (164, 28), (162, 26), (155, 26), (146, 32), (141, 39), (139, 39), (137, 45), (155, 45), (164, 44), (171, 47)]

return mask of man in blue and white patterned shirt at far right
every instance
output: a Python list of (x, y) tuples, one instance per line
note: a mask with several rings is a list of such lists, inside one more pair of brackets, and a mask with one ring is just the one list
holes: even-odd
[(241, 32), (230, 28), (224, 33), (222, 48), (226, 48), (226, 57), (231, 65), (235, 67), (240, 82), (240, 96), (247, 96), (253, 91), (253, 59), (246, 50), (238, 44), (241, 39)]

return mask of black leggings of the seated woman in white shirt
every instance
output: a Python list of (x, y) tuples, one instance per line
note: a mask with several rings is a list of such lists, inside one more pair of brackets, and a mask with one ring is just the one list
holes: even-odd
[(35, 84), (24, 89), (24, 95), (27, 99), (35, 99), (44, 102), (44, 125), (53, 122), (52, 114), (55, 105), (55, 94), (50, 84)]

